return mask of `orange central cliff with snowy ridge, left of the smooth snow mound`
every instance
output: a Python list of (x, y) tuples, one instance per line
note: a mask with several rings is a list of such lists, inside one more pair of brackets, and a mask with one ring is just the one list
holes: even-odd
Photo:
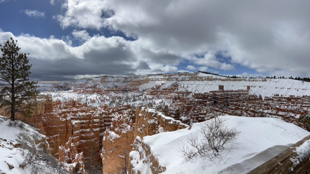
[[(125, 168), (130, 170), (129, 153), (141, 146), (138, 145), (140, 137), (188, 127), (156, 111), (151, 105), (124, 110), (113, 117), (111, 128), (105, 131), (102, 141), (101, 158), (103, 173), (106, 174), (122, 173)], [(153, 164), (156, 165), (156, 162)], [(159, 166), (157, 168), (161, 170)]]

